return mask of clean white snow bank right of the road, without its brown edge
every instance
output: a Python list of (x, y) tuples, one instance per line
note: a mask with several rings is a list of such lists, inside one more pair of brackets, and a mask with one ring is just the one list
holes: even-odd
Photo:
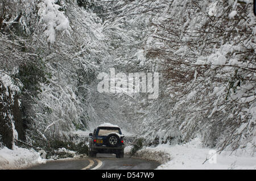
[[(171, 161), (160, 165), (157, 169), (256, 169), (256, 157), (234, 155), (231, 151), (222, 151), (216, 155), (216, 163), (205, 160), (210, 157), (198, 138), (184, 145), (159, 145), (156, 150), (171, 154)], [(204, 163), (205, 162), (205, 163)], [(203, 164), (204, 163), (204, 164)]]

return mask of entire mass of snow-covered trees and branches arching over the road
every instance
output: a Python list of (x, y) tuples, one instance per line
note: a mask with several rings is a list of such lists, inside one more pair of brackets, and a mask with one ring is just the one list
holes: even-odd
[[(20, 88), (26, 144), (68, 142), (76, 129), (107, 121), (147, 144), (200, 136), (219, 150), (255, 148), (251, 2), (6, 2), (0, 2), (0, 72)], [(159, 98), (100, 94), (97, 74), (109, 68), (159, 72)], [(7, 105), (14, 100), (7, 93), (1, 99), (1, 116), (7, 112), (14, 128)]]

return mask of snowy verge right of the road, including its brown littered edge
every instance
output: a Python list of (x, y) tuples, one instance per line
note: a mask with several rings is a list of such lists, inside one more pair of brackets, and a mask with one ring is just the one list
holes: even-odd
[[(129, 153), (131, 146), (125, 149), (126, 154)], [(155, 148), (144, 148), (139, 150), (135, 157), (143, 159), (153, 159), (159, 161), (158, 170), (162, 169), (256, 169), (256, 157), (250, 155), (250, 151), (222, 151), (216, 154), (216, 159), (212, 158), (210, 151), (213, 149), (203, 148), (199, 138), (195, 138), (188, 144), (168, 145), (162, 144)], [(216, 161), (216, 163), (214, 163)], [(212, 163), (211, 163), (212, 162)]]

